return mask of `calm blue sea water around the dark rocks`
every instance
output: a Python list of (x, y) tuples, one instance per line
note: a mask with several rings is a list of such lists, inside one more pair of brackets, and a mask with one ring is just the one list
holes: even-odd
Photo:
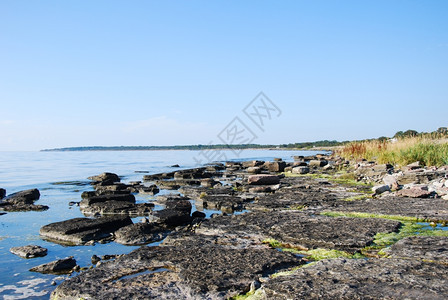
[[(312, 155), (316, 151), (244, 150), (239, 156), (225, 151), (231, 160), (273, 160), (280, 157), (292, 161), (294, 155)], [(199, 151), (92, 151), (92, 152), (0, 152), (0, 188), (7, 194), (38, 188), (41, 193), (36, 204), (50, 207), (44, 212), (8, 212), (0, 216), (0, 296), (3, 299), (48, 299), (52, 285), (65, 276), (32, 273), (34, 266), (56, 259), (74, 256), (81, 267), (91, 266), (93, 254), (123, 254), (136, 249), (114, 242), (94, 246), (61, 246), (42, 240), (39, 229), (49, 223), (84, 217), (70, 201), (80, 201), (83, 191), (92, 190), (88, 176), (113, 172), (122, 182), (142, 180), (136, 171), (160, 173), (198, 166)], [(205, 161), (204, 161), (205, 162)], [(163, 192), (163, 191), (162, 191)], [(137, 201), (153, 201), (153, 196), (136, 195)], [(210, 213), (210, 212), (209, 212)], [(134, 220), (135, 222), (138, 219)], [(41, 258), (23, 259), (9, 252), (11, 247), (29, 244), (48, 249)], [(76, 274), (76, 273), (75, 273)]]

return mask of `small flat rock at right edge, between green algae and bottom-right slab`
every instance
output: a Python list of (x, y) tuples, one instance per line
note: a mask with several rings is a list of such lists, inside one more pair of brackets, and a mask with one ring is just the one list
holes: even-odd
[(407, 237), (392, 245), (387, 253), (393, 258), (420, 259), (448, 264), (448, 237)]

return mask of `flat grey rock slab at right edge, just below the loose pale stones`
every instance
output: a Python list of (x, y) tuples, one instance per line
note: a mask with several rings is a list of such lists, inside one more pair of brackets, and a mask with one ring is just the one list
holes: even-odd
[(385, 197), (357, 201), (340, 201), (332, 211), (365, 212), (417, 217), (427, 221), (448, 221), (448, 201), (430, 198)]

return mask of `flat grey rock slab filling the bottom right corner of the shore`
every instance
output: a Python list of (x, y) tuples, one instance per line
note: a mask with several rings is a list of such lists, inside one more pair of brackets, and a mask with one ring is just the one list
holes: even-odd
[(257, 299), (447, 299), (447, 271), (417, 260), (322, 260), (269, 280)]

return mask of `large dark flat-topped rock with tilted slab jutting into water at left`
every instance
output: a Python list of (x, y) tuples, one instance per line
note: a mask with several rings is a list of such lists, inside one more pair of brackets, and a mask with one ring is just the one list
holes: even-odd
[(132, 224), (129, 217), (75, 218), (43, 226), (39, 233), (49, 240), (67, 244), (85, 244), (110, 238), (121, 227)]

